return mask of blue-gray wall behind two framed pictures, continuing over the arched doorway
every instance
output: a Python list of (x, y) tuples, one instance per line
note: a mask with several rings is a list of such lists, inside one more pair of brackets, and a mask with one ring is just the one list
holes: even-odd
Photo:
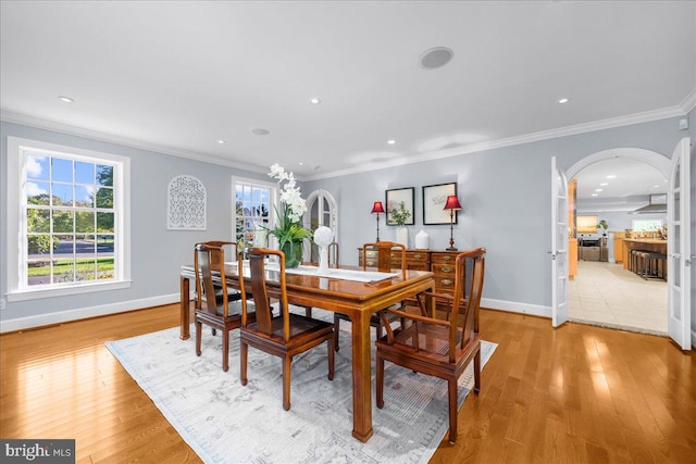
[[(642, 148), (671, 156), (680, 139), (679, 117), (560, 137), (514, 147), (308, 181), (303, 191), (323, 188), (339, 204), (341, 262), (357, 263), (357, 248), (375, 238), (372, 203), (384, 190), (415, 187), (415, 225), (423, 226), (421, 187), (458, 183), (463, 211), (455, 229), (460, 250), (486, 247), (484, 298), (493, 308), (548, 313), (550, 289), (550, 159), (561, 168), (612, 148)], [(693, 126), (693, 125), (692, 125)], [(696, 203), (692, 203), (692, 209)], [(692, 214), (696, 216), (696, 214)], [(382, 223), (384, 224), (384, 223)], [(449, 226), (426, 226), (431, 248), (444, 249)], [(381, 238), (394, 227), (382, 225)], [(696, 317), (694, 318), (696, 319)]]

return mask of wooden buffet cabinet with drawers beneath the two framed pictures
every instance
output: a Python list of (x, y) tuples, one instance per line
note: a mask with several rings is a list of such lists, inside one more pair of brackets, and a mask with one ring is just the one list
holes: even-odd
[[(455, 262), (460, 251), (406, 250), (406, 267), (412, 271), (431, 271), (435, 280), (436, 293), (455, 292)], [(400, 252), (391, 253), (391, 267), (400, 268)], [(366, 250), (368, 267), (376, 267), (377, 250)], [(362, 266), (362, 248), (358, 249), (358, 263)]]

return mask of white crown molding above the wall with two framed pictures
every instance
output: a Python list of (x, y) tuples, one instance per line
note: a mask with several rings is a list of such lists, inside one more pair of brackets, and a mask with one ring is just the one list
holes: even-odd
[[(687, 100), (684, 100), (684, 102), (686, 102)], [(559, 137), (568, 137), (568, 136), (577, 135), (577, 134), (593, 133), (596, 130), (611, 129), (611, 128), (622, 127), (622, 126), (630, 126), (630, 125), (639, 124), (639, 123), (649, 123), (651, 121), (666, 120), (669, 117), (683, 116), (687, 113), (683, 109), (684, 102), (678, 106), (664, 108), (661, 110), (646, 111), (643, 113), (630, 114), (627, 116), (611, 117), (608, 120), (600, 120), (592, 123), (576, 124), (574, 126), (559, 127), (557, 129), (550, 129), (550, 130), (542, 130), (538, 133), (525, 134), (525, 135), (515, 136), (515, 137), (508, 137), (499, 140), (477, 142), (477, 143), (469, 145), (465, 147), (457, 147), (457, 148), (451, 148), (447, 150), (437, 150), (428, 153), (419, 154), (415, 156), (402, 158), (399, 160), (394, 160), (394, 161), (388, 161), (383, 163), (366, 164), (360, 167), (318, 174), (313, 176), (308, 176), (303, 180), (319, 180), (324, 178), (345, 176), (349, 174), (359, 174), (359, 173), (364, 173), (369, 171), (376, 171), (382, 168), (400, 166), (405, 164), (422, 163), (424, 161), (439, 160), (443, 158), (476, 153), (476, 152), (486, 151), (486, 150), (494, 150), (497, 148), (513, 147), (517, 145), (549, 140), (549, 139), (559, 138)]]

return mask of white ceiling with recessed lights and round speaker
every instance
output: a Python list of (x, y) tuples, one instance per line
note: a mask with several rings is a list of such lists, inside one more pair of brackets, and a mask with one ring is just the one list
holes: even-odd
[(696, 2), (0, 3), (3, 121), (303, 179), (681, 115), (695, 88)]

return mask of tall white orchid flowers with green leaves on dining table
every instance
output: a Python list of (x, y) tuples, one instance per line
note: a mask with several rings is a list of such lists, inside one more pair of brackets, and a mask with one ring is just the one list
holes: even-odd
[(283, 166), (275, 163), (271, 166), (269, 176), (278, 179), (283, 214), (279, 214), (277, 209), (275, 210), (278, 217), (277, 226), (266, 228), (266, 231), (277, 237), (281, 249), (283, 249), (287, 243), (297, 243), (303, 238), (311, 237), (311, 231), (300, 225), (302, 214), (307, 211), (307, 203), (297, 187), (293, 173), (285, 172)]

